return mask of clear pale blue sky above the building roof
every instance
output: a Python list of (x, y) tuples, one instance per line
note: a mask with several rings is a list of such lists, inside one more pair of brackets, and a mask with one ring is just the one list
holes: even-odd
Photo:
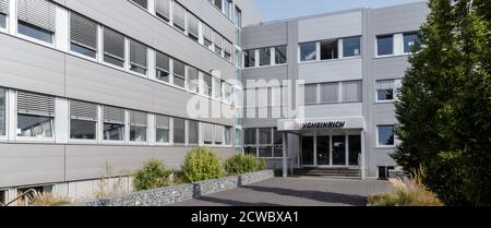
[(424, 0), (252, 0), (266, 21), (357, 8), (381, 8)]

